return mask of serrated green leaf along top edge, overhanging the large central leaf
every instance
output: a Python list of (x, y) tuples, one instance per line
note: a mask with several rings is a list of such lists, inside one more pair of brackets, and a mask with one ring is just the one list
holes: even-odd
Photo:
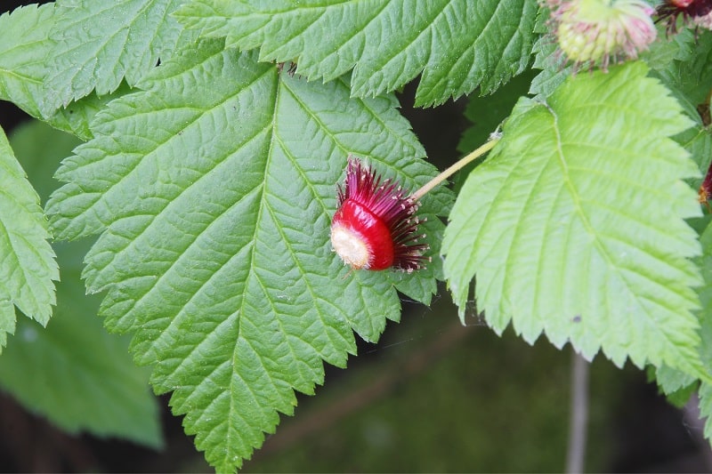
[(391, 92), (422, 73), (417, 105), (494, 92), (529, 63), (537, 12), (530, 0), (196, 0), (176, 15), (260, 60), (296, 60), (330, 81), (353, 69), (359, 97)]

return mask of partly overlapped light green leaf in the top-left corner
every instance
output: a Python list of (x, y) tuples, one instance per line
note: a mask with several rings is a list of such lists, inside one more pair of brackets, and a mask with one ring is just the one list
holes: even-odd
[(32, 116), (46, 94), (46, 57), (54, 24), (54, 4), (28, 5), (0, 16), (0, 100), (10, 100)]

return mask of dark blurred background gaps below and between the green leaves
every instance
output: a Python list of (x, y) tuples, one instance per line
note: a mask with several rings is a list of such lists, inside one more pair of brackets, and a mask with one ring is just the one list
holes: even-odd
[[(0, 12), (20, 4), (28, 3), (5, 1)], [(413, 95), (412, 86), (401, 94), (402, 113), (429, 157), (449, 165), (468, 126), (465, 100), (423, 110), (411, 107)], [(6, 133), (28, 119), (0, 101)], [(377, 345), (361, 342), (348, 370), (327, 367), (318, 396), (299, 397), (295, 417), (283, 417), (244, 471), (563, 469), (570, 349), (546, 341), (530, 347), (510, 332), (500, 339), (474, 310), (462, 326), (444, 287), (432, 308), (403, 304), (401, 324), (390, 324)], [(588, 470), (712, 470), (694, 410), (668, 405), (635, 367), (619, 370), (597, 358), (590, 393)], [(0, 392), (0, 470), (209, 471), (168, 397), (159, 404), (166, 448), (155, 452), (69, 436)]]

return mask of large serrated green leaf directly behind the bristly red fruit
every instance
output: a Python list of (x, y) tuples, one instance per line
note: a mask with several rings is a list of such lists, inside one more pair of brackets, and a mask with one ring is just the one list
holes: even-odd
[[(331, 251), (348, 154), (409, 189), (436, 170), (394, 97), (350, 99), (344, 80), (280, 76), (222, 42), (139, 87), (95, 117), (48, 212), (59, 237), (102, 232), (85, 277), (107, 291), (106, 324), (135, 332), (155, 390), (174, 391), (196, 446), (231, 471), (292, 413), (294, 390), (323, 382), (322, 360), (345, 366), (352, 329), (376, 341), (400, 317), (388, 272), (349, 272)], [(450, 200), (423, 199), (438, 232)], [(433, 269), (412, 278), (434, 288)]]

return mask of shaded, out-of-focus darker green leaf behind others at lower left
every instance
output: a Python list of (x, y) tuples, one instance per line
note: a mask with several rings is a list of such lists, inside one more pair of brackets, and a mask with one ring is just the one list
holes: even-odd
[[(12, 145), (41, 197), (56, 188), (52, 173), (79, 141), (40, 122), (18, 128)], [(70, 433), (162, 445), (149, 371), (134, 365), (129, 338), (109, 334), (96, 316), (100, 298), (79, 278), (89, 242), (55, 245), (61, 267), (57, 307), (46, 329), (20, 320), (0, 358), (0, 385), (31, 411)], [(28, 376), (28, 374), (32, 374)]]

